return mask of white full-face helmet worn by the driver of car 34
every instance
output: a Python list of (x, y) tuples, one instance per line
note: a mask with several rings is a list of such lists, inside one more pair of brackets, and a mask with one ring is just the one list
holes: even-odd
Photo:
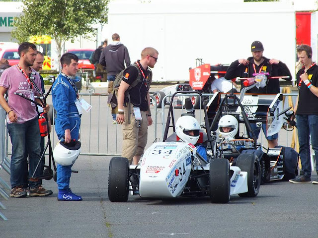
[[(175, 123), (177, 136), (184, 142), (196, 144), (200, 137), (200, 125), (197, 119), (192, 116), (182, 116)], [(189, 131), (193, 131), (193, 135)]]

